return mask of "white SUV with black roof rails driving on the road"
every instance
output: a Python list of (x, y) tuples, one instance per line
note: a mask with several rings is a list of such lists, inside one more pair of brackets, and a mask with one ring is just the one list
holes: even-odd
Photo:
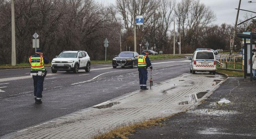
[(52, 73), (56, 73), (58, 70), (78, 73), (79, 69), (84, 69), (86, 72), (90, 72), (90, 57), (83, 50), (66, 50), (52, 60), (51, 68)]

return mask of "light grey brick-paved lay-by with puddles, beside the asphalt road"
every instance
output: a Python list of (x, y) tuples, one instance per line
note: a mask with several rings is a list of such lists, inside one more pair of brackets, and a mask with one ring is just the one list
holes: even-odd
[[(194, 108), (224, 81), (220, 75), (183, 74), (154, 85), (151, 90), (135, 91), (2, 138), (90, 138), (120, 124), (170, 116)], [(202, 97), (202, 94), (205, 95)]]

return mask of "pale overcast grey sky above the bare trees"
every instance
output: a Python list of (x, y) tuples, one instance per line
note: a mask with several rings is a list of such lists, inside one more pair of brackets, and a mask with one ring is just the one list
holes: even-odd
[[(97, 2), (103, 2), (105, 4), (113, 3), (115, 4), (115, 0), (95, 0)], [(181, 0), (176, 0), (176, 2), (180, 2)], [(248, 3), (249, 0), (241, 0), (240, 9), (254, 11), (256, 12), (256, 3)], [(250, 0), (252, 2), (256, 2), (256, 0)], [(200, 0), (206, 6), (209, 6), (210, 9), (216, 14), (217, 20), (214, 24), (234, 24), (236, 21), (236, 12), (235, 8), (238, 8), (239, 0)], [(239, 19), (244, 19), (245, 13), (249, 13), (246, 11), (239, 12)], [(251, 13), (250, 13), (251, 14)], [(252, 13), (253, 16), (256, 14)]]

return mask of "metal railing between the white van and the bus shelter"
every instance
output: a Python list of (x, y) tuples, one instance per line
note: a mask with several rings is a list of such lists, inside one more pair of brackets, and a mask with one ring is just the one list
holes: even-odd
[[(221, 57), (225, 57), (225, 60), (222, 61)], [(227, 57), (233, 59), (233, 62), (228, 62), (227, 59), (229, 59), (229, 58), (227, 58)], [(236, 70), (236, 64), (241, 64), (242, 65), (242, 70), (244, 71), (244, 60), (242, 60), (242, 62), (236, 62), (238, 60), (241, 60), (242, 57), (243, 56), (222, 56), (222, 55), (220, 55), (220, 60), (219, 60), (220, 64), (221, 64), (220, 66), (222, 66), (222, 67), (224, 66), (223, 68), (227, 69), (228, 63), (232, 63), (233, 64), (233, 69)], [(226, 63), (226, 64), (223, 65), (222, 63)]]

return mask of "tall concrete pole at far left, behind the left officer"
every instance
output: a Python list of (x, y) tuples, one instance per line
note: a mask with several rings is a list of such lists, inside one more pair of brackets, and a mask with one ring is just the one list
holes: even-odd
[(11, 0), (11, 65), (16, 65), (14, 1)]

